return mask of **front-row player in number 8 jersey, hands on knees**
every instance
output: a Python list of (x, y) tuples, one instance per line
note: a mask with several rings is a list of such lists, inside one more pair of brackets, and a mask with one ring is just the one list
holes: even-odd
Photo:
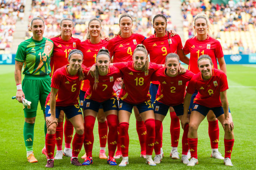
[[(234, 145), (233, 120), (229, 112), (226, 90), (228, 81), (226, 74), (222, 70), (214, 69), (211, 58), (208, 55), (202, 55), (198, 58), (198, 68), (200, 73), (194, 75), (187, 87), (187, 94), (184, 98), (184, 114), (182, 118), (182, 128), (189, 123), (188, 146), (191, 152), (191, 160), (187, 166), (198, 164), (197, 159), (197, 129), (199, 124), (206, 117), (209, 110), (212, 110), (216, 118), (222, 124), (224, 134), (225, 159), (226, 166), (233, 166), (230, 160), (232, 148)], [(197, 90), (193, 103), (190, 120), (187, 118), (188, 107), (191, 96)]]

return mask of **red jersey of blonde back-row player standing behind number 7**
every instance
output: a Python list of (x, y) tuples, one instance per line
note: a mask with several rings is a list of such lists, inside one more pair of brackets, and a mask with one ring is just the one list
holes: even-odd
[[(81, 50), (82, 53), (84, 54), (84, 61), (82, 64), (86, 67), (91, 67), (93, 64), (95, 64), (98, 51), (102, 48), (107, 48), (107, 45), (108, 45), (108, 41), (105, 41), (105, 40), (100, 40), (100, 42), (97, 44), (92, 44), (89, 39), (82, 41), (77, 47), (77, 49)], [(82, 84), (81, 84), (82, 91), (86, 91), (89, 87), (90, 87), (89, 80), (82, 81)]]

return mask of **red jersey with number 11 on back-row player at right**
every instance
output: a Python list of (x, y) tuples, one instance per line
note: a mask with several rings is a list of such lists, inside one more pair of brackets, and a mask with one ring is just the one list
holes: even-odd
[(190, 53), (190, 61), (188, 69), (193, 73), (200, 72), (197, 66), (197, 59), (199, 56), (207, 54), (211, 57), (213, 68), (218, 69), (217, 58), (224, 56), (220, 42), (208, 35), (206, 40), (199, 41), (197, 37), (190, 38), (186, 41), (183, 52)]

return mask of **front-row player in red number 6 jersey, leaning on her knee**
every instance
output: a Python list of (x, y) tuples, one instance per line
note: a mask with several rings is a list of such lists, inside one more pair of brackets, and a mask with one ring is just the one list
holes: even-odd
[(81, 80), (87, 71), (82, 66), (83, 54), (80, 50), (72, 50), (69, 53), (70, 64), (56, 70), (53, 74), (51, 92), (46, 103), (46, 152), (48, 160), (46, 167), (53, 168), (53, 155), (55, 149), (55, 132), (60, 111), (64, 111), (66, 117), (75, 128), (75, 136), (72, 143), (71, 164), (81, 166), (78, 154), (84, 142), (84, 120), (78, 103), (78, 95)]

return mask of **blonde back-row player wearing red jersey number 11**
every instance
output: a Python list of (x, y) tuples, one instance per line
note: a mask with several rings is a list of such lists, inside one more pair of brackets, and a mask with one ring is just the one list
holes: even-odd
[[(217, 60), (220, 66), (220, 69), (226, 74), (226, 63), (224, 60), (224, 55), (222, 52), (222, 46), (220, 42), (212, 37), (210, 37), (210, 21), (206, 14), (198, 13), (194, 17), (194, 32), (195, 35), (193, 38), (190, 38), (186, 41), (185, 46), (183, 47), (183, 53), (187, 55), (190, 53), (190, 60), (188, 64), (188, 69), (191, 70), (194, 74), (199, 72), (197, 66), (197, 60), (199, 56), (207, 54), (210, 56), (213, 62), (213, 68), (218, 69)], [(190, 110), (193, 106), (193, 99), (196, 96), (197, 91), (194, 92), (191, 103)], [(218, 120), (215, 117), (214, 113), (210, 110), (207, 114), (208, 120), (208, 133), (210, 137), (210, 144), (212, 148), (211, 157), (217, 159), (224, 159), (220, 152), (218, 151), (218, 141), (219, 141), (219, 125)]]

